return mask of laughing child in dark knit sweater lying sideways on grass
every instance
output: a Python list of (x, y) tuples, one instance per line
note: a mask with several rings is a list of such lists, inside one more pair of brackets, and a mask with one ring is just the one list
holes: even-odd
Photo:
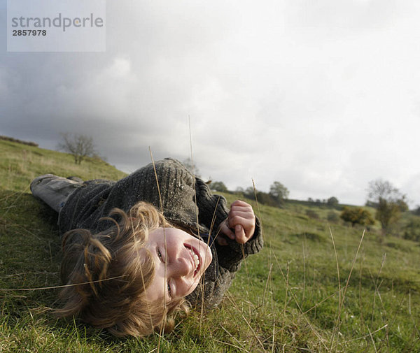
[(171, 331), (188, 304), (214, 308), (241, 261), (262, 248), (251, 206), (237, 200), (229, 210), (175, 159), (118, 182), (42, 175), (31, 192), (59, 212), (69, 287), (57, 315), (116, 336)]

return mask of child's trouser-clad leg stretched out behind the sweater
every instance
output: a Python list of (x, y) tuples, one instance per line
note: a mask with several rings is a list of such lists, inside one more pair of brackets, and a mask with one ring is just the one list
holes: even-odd
[(31, 192), (50, 208), (59, 212), (69, 195), (80, 187), (81, 182), (53, 174), (41, 175), (31, 182)]

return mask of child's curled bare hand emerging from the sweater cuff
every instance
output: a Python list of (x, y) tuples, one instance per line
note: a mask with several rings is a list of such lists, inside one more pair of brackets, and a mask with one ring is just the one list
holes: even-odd
[[(229, 216), (222, 222), (220, 231), (237, 243), (245, 244), (255, 231), (255, 215), (251, 205), (241, 200), (232, 203)], [(218, 236), (217, 241), (219, 245), (228, 245), (223, 236)]]

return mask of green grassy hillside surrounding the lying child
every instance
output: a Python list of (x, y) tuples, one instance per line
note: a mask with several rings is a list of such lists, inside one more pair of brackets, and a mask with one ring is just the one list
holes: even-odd
[(193, 312), (169, 335), (119, 339), (57, 321), (48, 312), (57, 289), (45, 289), (60, 284), (56, 215), (29, 182), (124, 174), (6, 141), (0, 152), (0, 352), (420, 352), (419, 243), (375, 229), (362, 240), (363, 229), (329, 228), (324, 210), (313, 219), (299, 205), (254, 202), (265, 249), (246, 260), (220, 308)]

